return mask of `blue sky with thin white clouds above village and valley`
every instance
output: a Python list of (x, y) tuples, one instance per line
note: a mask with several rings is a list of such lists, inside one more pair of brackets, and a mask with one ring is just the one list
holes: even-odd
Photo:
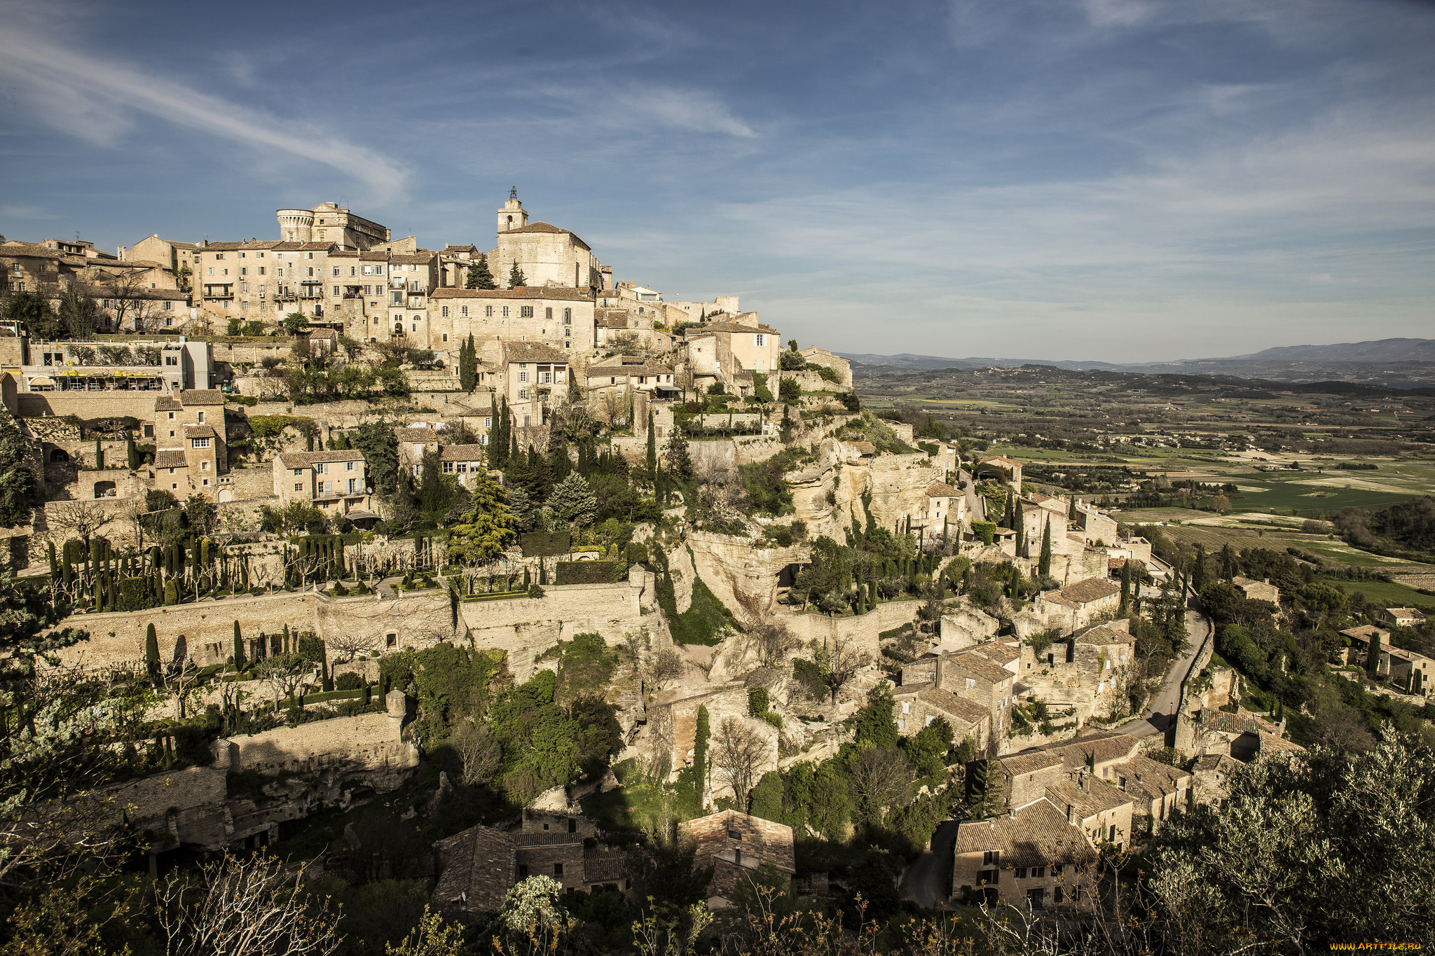
[(841, 351), (1432, 337), (1435, 4), (0, 0), (0, 234), (276, 238), (346, 201)]

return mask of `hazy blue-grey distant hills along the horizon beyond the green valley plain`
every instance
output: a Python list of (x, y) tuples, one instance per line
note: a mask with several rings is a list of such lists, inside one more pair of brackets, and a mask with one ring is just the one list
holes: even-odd
[(1332, 345), (1279, 345), (1248, 355), (1182, 358), (1157, 363), (1109, 363), (1052, 358), (943, 358), (839, 353), (858, 365), (885, 368), (1019, 368), (1053, 365), (1069, 371), (1144, 371), (1155, 374), (1237, 376), (1274, 381), (1350, 381), (1411, 388), (1435, 384), (1435, 340), (1380, 338)]

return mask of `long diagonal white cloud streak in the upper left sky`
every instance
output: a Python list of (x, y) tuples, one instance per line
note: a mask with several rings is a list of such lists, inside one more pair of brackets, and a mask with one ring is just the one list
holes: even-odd
[(261, 155), (323, 163), (359, 181), (366, 198), (376, 204), (403, 195), (408, 171), (390, 156), (320, 126), (197, 92), (194, 80), (56, 42), (32, 26), (34, 17), (26, 14), (33, 14), (33, 9), (24, 4), (7, 9), (10, 20), (0, 32), (0, 77), (37, 119), (56, 129), (96, 145), (118, 146), (133, 129), (136, 116), (146, 116), (241, 143)]

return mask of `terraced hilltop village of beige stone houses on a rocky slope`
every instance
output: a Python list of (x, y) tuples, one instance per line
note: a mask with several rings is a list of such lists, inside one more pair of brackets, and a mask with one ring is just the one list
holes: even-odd
[(268, 847), (474, 922), (535, 877), (637, 904), (676, 836), (712, 912), (761, 877), (1081, 914), (1302, 750), (1213, 664), (1204, 572), (1096, 505), (517, 193), (485, 245), (336, 204), (0, 244), (11, 586), (88, 635), (53, 666), (141, 688), (100, 793), (151, 873)]

